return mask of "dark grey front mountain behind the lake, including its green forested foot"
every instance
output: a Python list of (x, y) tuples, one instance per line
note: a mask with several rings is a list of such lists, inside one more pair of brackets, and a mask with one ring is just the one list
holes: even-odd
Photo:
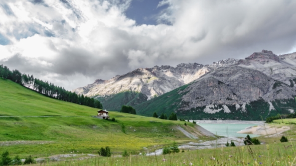
[[(166, 97), (175, 96), (167, 102)], [(192, 83), (136, 106), (139, 114), (177, 112), (185, 118), (260, 120), (296, 110), (294, 87), (251, 68), (219, 67)], [(172, 105), (174, 105), (172, 107)]]

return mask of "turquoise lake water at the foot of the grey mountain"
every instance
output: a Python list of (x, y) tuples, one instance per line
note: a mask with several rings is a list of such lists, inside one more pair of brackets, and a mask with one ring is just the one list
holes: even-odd
[[(262, 124), (261, 121), (239, 121), (239, 120), (195, 120), (197, 124), (204, 127), (208, 131), (221, 136), (228, 137), (246, 137), (245, 133), (237, 133), (249, 126)], [(228, 135), (227, 135), (228, 128)], [(259, 136), (256, 134), (249, 134), (251, 137)]]

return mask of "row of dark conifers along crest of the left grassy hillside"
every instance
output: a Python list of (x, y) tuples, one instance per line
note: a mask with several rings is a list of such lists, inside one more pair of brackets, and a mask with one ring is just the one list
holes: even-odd
[(10, 79), (52, 98), (103, 109), (103, 105), (97, 99), (84, 96), (83, 94), (76, 94), (75, 92), (66, 90), (64, 87), (34, 78), (33, 75), (22, 74), (17, 69), (11, 71), (7, 66), (3, 66), (3, 64), (0, 65), (0, 77)]

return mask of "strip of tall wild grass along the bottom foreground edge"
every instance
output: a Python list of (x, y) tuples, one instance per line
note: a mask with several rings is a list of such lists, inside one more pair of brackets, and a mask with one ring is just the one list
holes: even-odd
[(293, 165), (296, 153), (286, 143), (199, 149), (167, 155), (71, 158), (35, 165)]

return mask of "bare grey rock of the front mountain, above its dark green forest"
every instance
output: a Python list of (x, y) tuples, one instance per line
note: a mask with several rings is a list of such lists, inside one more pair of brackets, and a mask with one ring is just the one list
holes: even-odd
[(274, 80), (251, 68), (239, 66), (220, 67), (195, 80), (184, 91), (181, 109), (204, 105), (235, 105), (263, 98), (265, 101), (292, 98), (294, 88)]

